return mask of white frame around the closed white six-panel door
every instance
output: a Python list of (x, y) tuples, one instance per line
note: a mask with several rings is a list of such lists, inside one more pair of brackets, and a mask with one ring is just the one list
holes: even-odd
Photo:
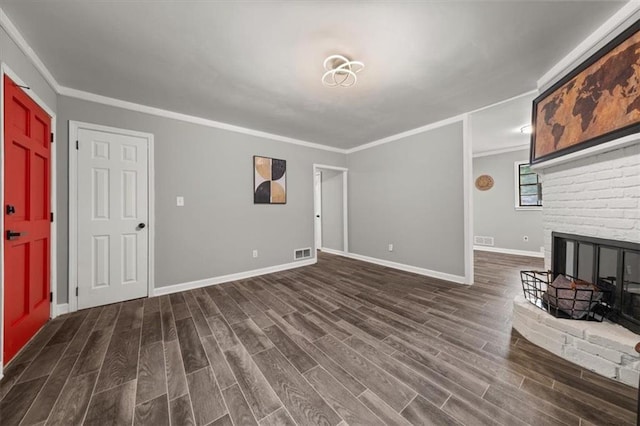
[(80, 129), (135, 136), (147, 140), (147, 203), (149, 208), (149, 219), (147, 225), (147, 228), (149, 229), (148, 297), (153, 296), (155, 283), (153, 274), (155, 264), (154, 240), (156, 222), (154, 201), (155, 173), (153, 166), (153, 134), (69, 120), (69, 312), (75, 312), (78, 310), (78, 296), (76, 295), (76, 288), (78, 286), (78, 150), (76, 149), (76, 141), (78, 140), (78, 131)]

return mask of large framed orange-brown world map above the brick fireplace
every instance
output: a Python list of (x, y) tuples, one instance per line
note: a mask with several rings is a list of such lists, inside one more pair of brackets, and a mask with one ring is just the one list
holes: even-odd
[(530, 161), (640, 131), (640, 21), (533, 101)]

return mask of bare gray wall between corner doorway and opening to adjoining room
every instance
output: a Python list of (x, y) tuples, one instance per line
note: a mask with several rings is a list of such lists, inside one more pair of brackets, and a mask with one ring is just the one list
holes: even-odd
[(349, 251), (464, 276), (462, 139), (457, 122), (350, 154)]

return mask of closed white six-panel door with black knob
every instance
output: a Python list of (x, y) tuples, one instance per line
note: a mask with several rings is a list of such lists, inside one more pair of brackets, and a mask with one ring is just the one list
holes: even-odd
[(78, 130), (78, 308), (148, 294), (147, 140)]

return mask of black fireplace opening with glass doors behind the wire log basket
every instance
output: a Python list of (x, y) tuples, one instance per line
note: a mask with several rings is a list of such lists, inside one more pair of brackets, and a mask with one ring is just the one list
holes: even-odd
[(608, 290), (606, 318), (640, 333), (640, 244), (552, 232), (552, 274)]

